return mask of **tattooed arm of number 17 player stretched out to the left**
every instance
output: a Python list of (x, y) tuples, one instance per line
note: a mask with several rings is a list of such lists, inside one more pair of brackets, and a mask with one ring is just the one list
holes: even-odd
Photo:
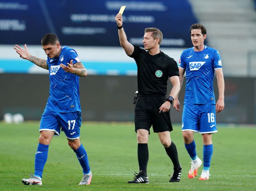
[(20, 48), (17, 44), (13, 48), (20, 55), (21, 58), (29, 60), (30, 62), (33, 62), (34, 64), (36, 64), (37, 66), (40, 66), (41, 68), (49, 70), (46, 60), (30, 55), (26, 44), (24, 45), (25, 49)]

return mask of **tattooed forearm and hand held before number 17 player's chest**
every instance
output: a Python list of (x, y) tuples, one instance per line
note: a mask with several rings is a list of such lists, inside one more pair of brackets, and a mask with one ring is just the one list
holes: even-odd
[(66, 72), (75, 74), (76, 76), (87, 76), (87, 71), (84, 68), (82, 62), (77, 62), (73, 65), (73, 60), (70, 63), (67, 63), (68, 66), (64, 64), (60, 64), (60, 67), (63, 68)]

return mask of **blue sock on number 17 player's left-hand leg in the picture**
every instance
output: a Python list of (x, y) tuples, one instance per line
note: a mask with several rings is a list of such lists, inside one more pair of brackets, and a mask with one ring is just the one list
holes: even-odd
[(34, 176), (42, 178), (44, 165), (48, 156), (49, 145), (38, 143), (36, 156), (35, 156), (35, 173)]

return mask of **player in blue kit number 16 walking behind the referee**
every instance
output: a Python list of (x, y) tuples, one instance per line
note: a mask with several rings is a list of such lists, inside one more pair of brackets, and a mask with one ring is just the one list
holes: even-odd
[[(224, 109), (224, 77), (219, 52), (204, 45), (206, 28), (202, 24), (194, 24), (190, 27), (190, 34), (194, 47), (181, 53), (179, 63), (180, 86), (182, 86), (186, 71), (182, 135), (192, 160), (188, 178), (194, 178), (198, 168), (202, 165), (202, 161), (197, 157), (193, 136), (194, 132), (202, 134), (204, 167), (199, 180), (208, 180), (213, 153), (212, 133), (217, 132), (215, 113)], [(214, 71), (219, 90), (216, 106), (213, 92)], [(178, 96), (174, 98), (173, 107), (180, 111)]]

